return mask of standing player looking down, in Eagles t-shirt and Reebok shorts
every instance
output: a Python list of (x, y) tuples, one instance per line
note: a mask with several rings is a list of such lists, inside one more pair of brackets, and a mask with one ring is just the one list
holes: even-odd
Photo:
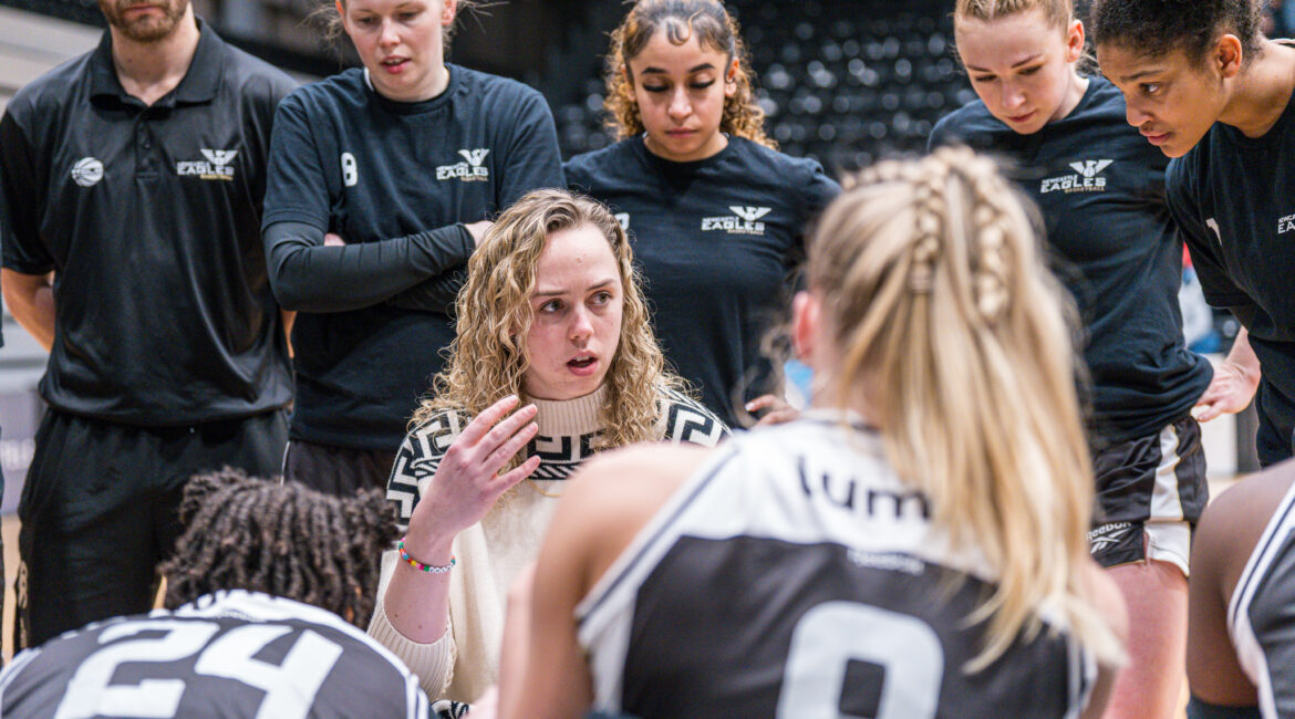
[(1182, 339), (1167, 160), (1128, 128), (1119, 91), (1076, 70), (1084, 26), (1070, 0), (960, 0), (954, 30), (979, 100), (930, 142), (1006, 158), (1041, 209), (1050, 264), (1087, 330), (1090, 550), (1129, 604), (1131, 662), (1111, 713), (1164, 716), (1182, 681), (1191, 526), (1208, 495), (1190, 411), (1212, 376)]

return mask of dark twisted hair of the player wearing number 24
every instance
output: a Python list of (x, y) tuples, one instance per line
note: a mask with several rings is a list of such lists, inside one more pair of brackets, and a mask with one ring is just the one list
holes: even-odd
[(381, 490), (329, 497), (228, 467), (189, 480), (180, 522), (185, 533), (161, 566), (167, 608), (249, 590), (313, 604), (361, 628), (373, 614), (382, 551), (399, 537)]

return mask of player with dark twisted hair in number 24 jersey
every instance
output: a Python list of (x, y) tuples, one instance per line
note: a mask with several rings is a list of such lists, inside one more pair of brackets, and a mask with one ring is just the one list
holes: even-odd
[(379, 491), (335, 498), (225, 471), (184, 494), (186, 530), (162, 566), (170, 610), (18, 654), (0, 714), (427, 716), (417, 678), (357, 628), (396, 537)]

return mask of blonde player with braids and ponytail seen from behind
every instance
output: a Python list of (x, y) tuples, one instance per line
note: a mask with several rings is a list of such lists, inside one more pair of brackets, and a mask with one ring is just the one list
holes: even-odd
[(504, 716), (1101, 714), (1124, 613), (1023, 204), (966, 149), (882, 163), (807, 266), (815, 409), (592, 459), (510, 618)]

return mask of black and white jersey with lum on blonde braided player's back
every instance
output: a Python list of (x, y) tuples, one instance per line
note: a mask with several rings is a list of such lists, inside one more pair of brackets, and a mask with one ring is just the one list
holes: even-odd
[(967, 617), (992, 591), (985, 561), (931, 526), (879, 436), (838, 416), (730, 440), (598, 581), (576, 608), (594, 707), (1077, 716), (1096, 663), (1063, 631), (965, 671), (983, 648)]

